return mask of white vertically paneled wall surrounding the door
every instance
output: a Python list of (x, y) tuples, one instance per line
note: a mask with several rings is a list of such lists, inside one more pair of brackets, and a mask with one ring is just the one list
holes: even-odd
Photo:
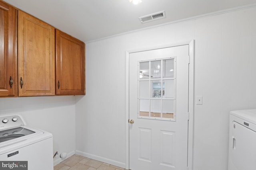
[(86, 43), (76, 96), (76, 150), (125, 164), (125, 51), (195, 39), (194, 170), (226, 170), (229, 112), (256, 108), (256, 8)]

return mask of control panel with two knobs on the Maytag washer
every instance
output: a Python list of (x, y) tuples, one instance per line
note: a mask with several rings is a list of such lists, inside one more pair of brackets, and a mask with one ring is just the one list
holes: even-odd
[(9, 129), (24, 125), (24, 122), (18, 115), (0, 117), (0, 130)]

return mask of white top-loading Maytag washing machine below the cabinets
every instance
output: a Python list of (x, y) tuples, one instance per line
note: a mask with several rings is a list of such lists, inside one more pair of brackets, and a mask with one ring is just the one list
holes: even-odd
[(53, 170), (52, 134), (19, 115), (0, 117), (0, 170)]

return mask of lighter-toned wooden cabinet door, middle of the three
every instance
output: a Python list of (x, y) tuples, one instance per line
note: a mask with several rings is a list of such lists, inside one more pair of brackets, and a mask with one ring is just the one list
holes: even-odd
[(55, 95), (55, 29), (22, 11), (18, 11), (18, 79), (18, 96)]

